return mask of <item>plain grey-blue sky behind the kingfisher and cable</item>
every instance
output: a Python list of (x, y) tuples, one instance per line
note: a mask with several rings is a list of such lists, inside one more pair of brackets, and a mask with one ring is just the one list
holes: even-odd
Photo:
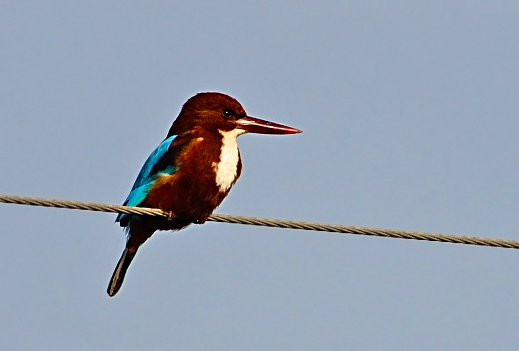
[[(519, 240), (519, 3), (0, 2), (0, 193), (121, 204), (182, 104), (238, 139), (215, 213)], [(0, 348), (516, 350), (519, 251), (0, 204)]]

